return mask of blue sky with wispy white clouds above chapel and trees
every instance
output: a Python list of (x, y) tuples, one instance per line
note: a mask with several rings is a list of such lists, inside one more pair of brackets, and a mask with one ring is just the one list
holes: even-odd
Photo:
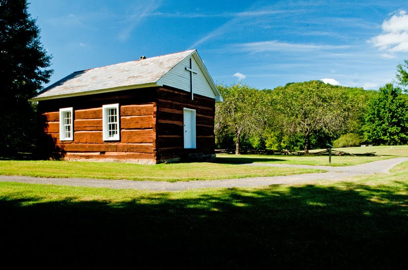
[(29, 12), (53, 55), (51, 82), (195, 48), (216, 83), (378, 89), (408, 59), (408, 1), (32, 0)]

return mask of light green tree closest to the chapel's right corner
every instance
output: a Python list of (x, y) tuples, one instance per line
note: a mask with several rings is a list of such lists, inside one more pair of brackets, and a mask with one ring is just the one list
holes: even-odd
[(268, 116), (267, 95), (245, 84), (217, 87), (224, 102), (215, 108), (216, 138), (234, 136), (235, 154), (240, 154), (241, 138), (263, 131)]

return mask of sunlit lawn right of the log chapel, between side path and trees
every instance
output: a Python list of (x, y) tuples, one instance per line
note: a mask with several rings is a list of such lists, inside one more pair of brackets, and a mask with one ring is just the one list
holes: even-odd
[[(328, 156), (217, 154), (217, 162), (225, 164), (277, 163), (277, 164), (301, 164), (301, 165), (351, 166), (381, 159), (408, 157), (408, 145), (349, 147), (335, 149), (352, 154), (375, 152), (376, 155), (378, 155), (378, 157), (332, 156), (331, 164), (329, 164)], [(320, 149), (315, 151), (320, 151)]]

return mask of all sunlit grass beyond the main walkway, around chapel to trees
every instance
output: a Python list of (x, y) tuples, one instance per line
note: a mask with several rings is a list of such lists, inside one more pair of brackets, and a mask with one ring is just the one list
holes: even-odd
[[(380, 159), (408, 156), (408, 146), (374, 146), (343, 148), (350, 153), (377, 152), (379, 157), (335, 156), (331, 166), (347, 166)], [(194, 181), (256, 176), (277, 176), (322, 170), (242, 166), (240, 163), (279, 163), (303, 165), (329, 165), (327, 156), (292, 155), (217, 155), (215, 163), (178, 163), (139, 165), (100, 162), (16, 161), (0, 160), (0, 174), (34, 177), (82, 177), (129, 179), (135, 181)]]

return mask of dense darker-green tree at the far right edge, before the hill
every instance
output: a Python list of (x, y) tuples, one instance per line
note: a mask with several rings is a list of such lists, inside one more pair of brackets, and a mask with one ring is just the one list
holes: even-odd
[(374, 144), (404, 144), (408, 141), (408, 105), (401, 89), (392, 83), (379, 88), (369, 104), (363, 127), (365, 138)]

